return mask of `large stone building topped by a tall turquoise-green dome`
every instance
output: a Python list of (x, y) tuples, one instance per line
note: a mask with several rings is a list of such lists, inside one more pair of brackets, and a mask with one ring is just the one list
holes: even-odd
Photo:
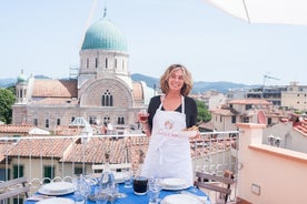
[(90, 124), (111, 123), (120, 133), (136, 123), (137, 112), (147, 106), (155, 90), (131, 80), (126, 37), (106, 17), (106, 10), (87, 30), (79, 55), (75, 78), (36, 79), (21, 72), (12, 105), (13, 124), (53, 131), (83, 118)]

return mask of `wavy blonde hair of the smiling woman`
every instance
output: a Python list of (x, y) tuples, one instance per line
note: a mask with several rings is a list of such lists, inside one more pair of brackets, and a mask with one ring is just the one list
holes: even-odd
[(191, 79), (191, 73), (187, 70), (187, 68), (185, 68), (181, 64), (171, 64), (170, 67), (168, 67), (168, 69), (165, 71), (164, 75), (160, 78), (160, 89), (161, 89), (162, 93), (165, 93), (165, 94), (168, 93), (169, 76), (174, 71), (177, 71), (177, 70), (181, 70), (184, 72), (184, 85), (180, 90), (180, 93), (184, 96), (187, 96), (192, 89), (192, 79)]

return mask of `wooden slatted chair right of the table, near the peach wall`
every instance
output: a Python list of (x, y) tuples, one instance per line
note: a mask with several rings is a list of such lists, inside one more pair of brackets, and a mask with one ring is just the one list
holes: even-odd
[(231, 194), (231, 185), (235, 183), (234, 178), (234, 173), (229, 170), (224, 172), (224, 176), (196, 172), (195, 186), (218, 192), (217, 202), (226, 204)]

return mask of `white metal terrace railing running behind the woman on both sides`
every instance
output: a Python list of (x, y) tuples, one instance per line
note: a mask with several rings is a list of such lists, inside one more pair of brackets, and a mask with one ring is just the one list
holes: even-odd
[[(225, 170), (237, 172), (239, 132), (206, 132), (190, 139), (195, 171), (221, 175)], [(36, 191), (53, 180), (75, 174), (91, 174), (92, 165), (103, 164), (106, 151), (110, 163), (131, 163), (137, 171), (139, 154), (148, 147), (143, 134), (20, 136), (0, 137), (0, 181), (27, 176)]]

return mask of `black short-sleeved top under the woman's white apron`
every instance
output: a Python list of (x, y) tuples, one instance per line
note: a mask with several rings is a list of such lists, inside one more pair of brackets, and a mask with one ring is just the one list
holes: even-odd
[[(161, 100), (160, 100), (160, 95), (156, 95), (154, 98), (151, 98), (149, 105), (148, 105), (148, 113), (149, 113), (149, 118), (148, 118), (148, 124), (149, 124), (149, 129), (151, 130), (152, 128), (152, 120), (154, 116), (156, 114), (157, 109), (159, 109), (159, 105), (161, 104)], [(178, 106), (178, 109), (176, 109), (175, 111), (177, 112), (182, 112), (182, 104), (180, 106)], [(161, 108), (161, 110), (164, 111), (164, 106)], [(186, 123), (187, 123), (187, 128), (190, 128), (192, 125), (196, 124), (197, 122), (197, 105), (194, 99), (189, 98), (189, 96), (185, 96), (185, 112), (186, 114)]]

